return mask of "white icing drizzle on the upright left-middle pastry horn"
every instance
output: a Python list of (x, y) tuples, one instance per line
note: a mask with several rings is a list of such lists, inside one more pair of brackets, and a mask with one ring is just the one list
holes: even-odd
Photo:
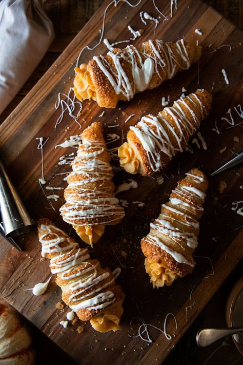
[[(110, 186), (105, 186), (105, 181), (113, 178), (109, 162), (99, 159), (105, 149), (104, 142), (83, 140), (82, 148), (77, 150), (69, 177), (86, 178), (68, 185), (73, 192), (67, 194), (66, 204), (59, 209), (65, 222), (83, 226), (87, 225), (87, 220), (96, 219), (92, 224), (110, 224), (124, 216), (123, 209), (117, 209), (119, 201), (110, 194)], [(95, 189), (89, 187), (93, 183), (96, 183)]]

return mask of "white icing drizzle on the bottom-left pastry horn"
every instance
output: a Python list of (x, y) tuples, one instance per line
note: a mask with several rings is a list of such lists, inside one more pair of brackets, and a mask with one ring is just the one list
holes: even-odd
[[(71, 302), (70, 308), (74, 312), (80, 309), (91, 311), (104, 309), (113, 303), (115, 301), (113, 292), (106, 291), (105, 288), (114, 284), (114, 277), (108, 282), (103, 282), (110, 276), (110, 273), (105, 272), (98, 275), (97, 264), (87, 261), (90, 259), (88, 249), (79, 248), (77, 242), (71, 240), (66, 233), (53, 225), (42, 224), (40, 228), (45, 232), (39, 238), (42, 243), (42, 256), (45, 257), (48, 253), (55, 254), (50, 262), (52, 274), (61, 273), (62, 280), (72, 279), (72, 283), (69, 285), (71, 294), (68, 299)], [(59, 233), (64, 237), (61, 237)], [(68, 243), (67, 246), (62, 244), (65, 241)], [(95, 286), (98, 283), (97, 289)], [(86, 299), (87, 297), (89, 299)]]

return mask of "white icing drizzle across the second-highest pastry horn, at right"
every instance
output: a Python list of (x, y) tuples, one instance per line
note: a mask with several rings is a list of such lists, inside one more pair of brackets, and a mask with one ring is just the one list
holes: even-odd
[[(194, 101), (193, 98), (195, 98), (196, 101)], [(172, 128), (171, 124), (162, 117), (161, 113), (158, 113), (157, 117), (152, 116), (151, 114), (146, 117), (142, 117), (140, 122), (138, 122), (134, 127), (130, 127), (146, 150), (149, 164), (154, 172), (159, 171), (163, 166), (161, 152), (165, 153), (171, 160), (177, 151), (183, 151), (181, 142), (183, 140), (186, 141), (186, 133), (183, 132), (181, 126), (186, 129), (189, 136), (192, 136), (199, 127), (200, 118), (196, 117), (196, 114), (186, 103), (186, 100), (197, 106), (197, 108), (200, 108), (201, 118), (206, 116), (204, 105), (201, 103), (196, 94), (190, 94), (186, 98), (180, 98), (178, 101), (174, 102), (172, 107), (166, 107), (164, 111), (170, 114), (170, 116), (174, 119), (179, 131), (178, 135), (175, 129)], [(187, 118), (182, 107), (187, 108), (187, 111), (191, 114), (191, 118), (194, 120), (194, 124), (192, 124), (192, 122)], [(166, 129), (169, 129), (173, 137), (176, 139), (178, 144), (177, 148), (173, 146)]]

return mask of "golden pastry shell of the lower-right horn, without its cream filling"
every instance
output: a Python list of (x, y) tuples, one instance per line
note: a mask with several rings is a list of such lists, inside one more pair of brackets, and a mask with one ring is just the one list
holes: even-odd
[(190, 274), (197, 246), (198, 219), (201, 217), (206, 176), (192, 169), (179, 181), (169, 202), (161, 206), (159, 217), (150, 224), (150, 233), (141, 240), (141, 249), (151, 262), (163, 264), (179, 277)]

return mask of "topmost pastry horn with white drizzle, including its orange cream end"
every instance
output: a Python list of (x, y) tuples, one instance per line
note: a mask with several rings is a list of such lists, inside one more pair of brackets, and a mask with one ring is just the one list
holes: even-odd
[(188, 69), (200, 55), (201, 46), (184, 40), (115, 48), (75, 68), (74, 92), (81, 101), (96, 99), (100, 107), (115, 108), (118, 100), (130, 100), (135, 93), (158, 87), (178, 71)]

